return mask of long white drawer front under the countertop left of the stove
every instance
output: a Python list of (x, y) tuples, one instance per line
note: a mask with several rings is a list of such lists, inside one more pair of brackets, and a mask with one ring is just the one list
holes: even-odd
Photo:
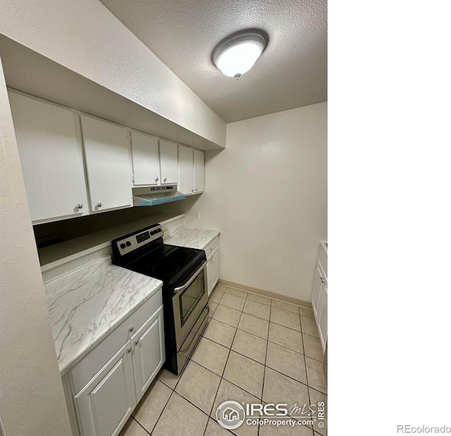
[(161, 289), (159, 289), (72, 368), (75, 395), (104, 367), (124, 343), (130, 340), (161, 304), (163, 304), (163, 299)]

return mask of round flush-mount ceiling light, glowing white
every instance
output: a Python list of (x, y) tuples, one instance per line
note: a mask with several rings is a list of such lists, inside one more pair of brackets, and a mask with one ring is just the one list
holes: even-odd
[(239, 79), (254, 66), (265, 49), (266, 41), (266, 34), (260, 30), (234, 34), (214, 49), (214, 65), (226, 76)]

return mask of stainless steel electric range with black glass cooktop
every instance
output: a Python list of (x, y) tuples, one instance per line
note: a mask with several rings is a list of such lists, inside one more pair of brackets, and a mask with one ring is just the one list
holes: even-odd
[(113, 264), (163, 281), (165, 367), (178, 375), (209, 319), (204, 250), (164, 244), (160, 224), (112, 245)]

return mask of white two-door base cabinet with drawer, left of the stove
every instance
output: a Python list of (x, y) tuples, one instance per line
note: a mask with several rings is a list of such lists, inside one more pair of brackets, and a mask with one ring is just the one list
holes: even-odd
[(63, 376), (73, 435), (118, 435), (165, 358), (160, 289)]

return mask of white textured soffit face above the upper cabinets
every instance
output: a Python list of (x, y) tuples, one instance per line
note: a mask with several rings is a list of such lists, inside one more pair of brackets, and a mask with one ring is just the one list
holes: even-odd
[(2, 0), (0, 33), (225, 145), (226, 123), (99, 0)]

